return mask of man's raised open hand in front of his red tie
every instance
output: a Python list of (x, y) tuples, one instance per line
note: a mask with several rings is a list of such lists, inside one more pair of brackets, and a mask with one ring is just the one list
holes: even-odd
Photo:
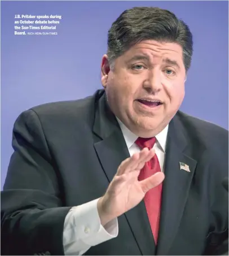
[(120, 164), (106, 193), (98, 201), (98, 212), (102, 225), (138, 205), (149, 189), (164, 180), (164, 173), (157, 172), (146, 180), (138, 181), (140, 170), (154, 155), (153, 149), (144, 148)]

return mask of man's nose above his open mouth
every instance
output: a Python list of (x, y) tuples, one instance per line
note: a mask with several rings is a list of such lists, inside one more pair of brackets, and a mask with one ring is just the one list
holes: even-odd
[(148, 70), (147, 78), (144, 80), (143, 88), (148, 93), (156, 94), (161, 90), (161, 76), (156, 70)]

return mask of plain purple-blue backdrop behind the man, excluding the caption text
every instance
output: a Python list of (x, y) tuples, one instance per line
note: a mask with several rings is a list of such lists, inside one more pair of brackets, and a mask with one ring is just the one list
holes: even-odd
[[(166, 8), (190, 26), (194, 54), (181, 109), (228, 129), (228, 2), (1, 1), (1, 188), (17, 116), (32, 106), (86, 97), (101, 88), (107, 31), (134, 6)], [(58, 36), (15, 36), (16, 14), (62, 15)]]

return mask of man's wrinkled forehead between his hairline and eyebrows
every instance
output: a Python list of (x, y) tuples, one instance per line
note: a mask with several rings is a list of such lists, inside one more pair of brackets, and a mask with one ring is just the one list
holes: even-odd
[(139, 54), (142, 54), (149, 61), (172, 58), (180, 64), (183, 63), (183, 49), (174, 42), (141, 41), (127, 50), (122, 57), (128, 61)]

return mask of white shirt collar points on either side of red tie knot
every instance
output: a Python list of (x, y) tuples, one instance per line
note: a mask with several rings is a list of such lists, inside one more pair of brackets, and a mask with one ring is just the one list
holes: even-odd
[[(120, 125), (122, 134), (124, 135), (126, 146), (128, 149), (134, 144), (138, 136), (136, 136), (133, 132), (131, 132), (124, 123), (122, 123), (117, 117), (116, 117), (118, 124)], [(168, 128), (169, 125), (167, 125), (160, 133), (158, 133), (155, 137), (157, 139), (157, 142), (161, 146), (162, 150), (165, 152), (165, 146), (166, 146), (166, 140), (167, 140), (167, 134), (168, 134)]]

